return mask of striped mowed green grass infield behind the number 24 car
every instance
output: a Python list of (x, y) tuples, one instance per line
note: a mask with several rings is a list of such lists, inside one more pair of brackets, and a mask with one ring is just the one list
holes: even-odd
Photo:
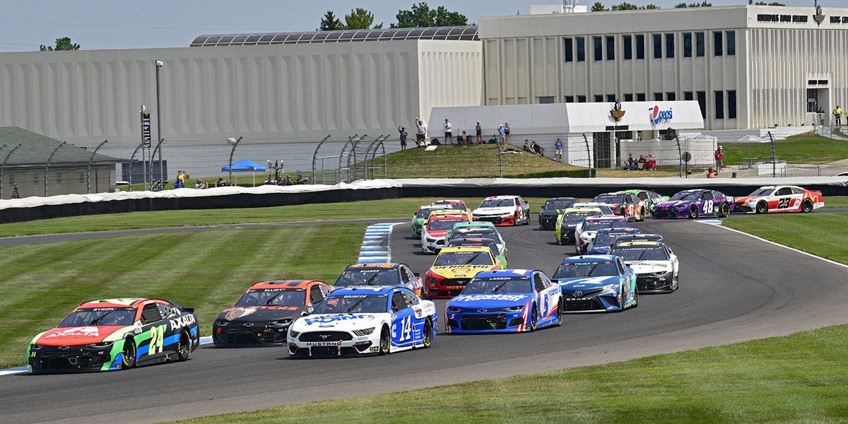
[(359, 255), (365, 224), (157, 233), (0, 249), (0, 368), (23, 365), (26, 345), (82, 302), (167, 298), (215, 315), (254, 282), (334, 282)]

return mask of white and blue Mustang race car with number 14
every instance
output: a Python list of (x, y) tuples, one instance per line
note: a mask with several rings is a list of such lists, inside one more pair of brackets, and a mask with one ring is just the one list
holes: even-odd
[(288, 328), (288, 354), (390, 354), (429, 348), (437, 332), (436, 305), (408, 288), (345, 287)]

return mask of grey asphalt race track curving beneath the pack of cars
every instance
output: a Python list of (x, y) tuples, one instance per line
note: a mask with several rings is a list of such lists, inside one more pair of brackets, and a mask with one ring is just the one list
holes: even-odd
[[(633, 226), (661, 233), (678, 254), (681, 270), (676, 293), (643, 295), (633, 310), (567, 315), (563, 326), (533, 333), (440, 332), (430, 349), (384, 357), (289, 360), (282, 348), (207, 345), (184, 363), (105, 373), (15, 374), (2, 377), (2, 421), (176, 420), (604, 364), (848, 322), (845, 266), (690, 220), (648, 220)], [(535, 216), (531, 226), (501, 232), (512, 268), (550, 274), (574, 253), (573, 246), (556, 245), (553, 232), (536, 229)], [(30, 237), (15, 239), (24, 238)], [(405, 220), (394, 227), (390, 247), (394, 261), (411, 265), (422, 276), (434, 259), (421, 254)], [(437, 304), (444, 323), (444, 300)]]

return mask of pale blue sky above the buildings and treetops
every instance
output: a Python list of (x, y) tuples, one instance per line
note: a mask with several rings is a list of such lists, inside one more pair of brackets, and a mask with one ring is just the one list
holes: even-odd
[[(596, 0), (580, 0), (591, 8)], [(607, 8), (624, 0), (600, 0)], [(684, 0), (628, 0), (673, 8)], [(685, 0), (693, 3), (695, 0)], [(700, 1), (700, 0), (699, 0)], [(768, 0), (767, 3), (771, 3)], [(814, 0), (777, 0), (787, 6), (813, 7)], [(713, 6), (747, 4), (747, 0), (708, 0)], [(203, 34), (315, 31), (327, 10), (343, 20), (352, 8), (365, 8), (384, 28), (397, 22), (400, 9), (417, 1), (389, 0), (3, 0), (0, 6), (0, 53), (32, 52), (40, 45), (70, 36), (84, 50), (111, 48), (187, 47)], [(755, 2), (756, 3), (756, 2)], [(818, 0), (823, 8), (848, 7), (848, 0)], [(557, 0), (431, 0), (465, 14), (470, 23), (480, 16), (530, 13), (531, 4), (561, 4)], [(827, 14), (825, 9), (824, 14)]]

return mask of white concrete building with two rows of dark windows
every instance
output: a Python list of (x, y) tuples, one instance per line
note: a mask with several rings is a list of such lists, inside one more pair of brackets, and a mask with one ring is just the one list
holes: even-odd
[[(812, 2), (811, 2), (812, 3)], [(487, 105), (695, 100), (706, 130), (812, 125), (848, 103), (848, 8), (483, 17)]]

